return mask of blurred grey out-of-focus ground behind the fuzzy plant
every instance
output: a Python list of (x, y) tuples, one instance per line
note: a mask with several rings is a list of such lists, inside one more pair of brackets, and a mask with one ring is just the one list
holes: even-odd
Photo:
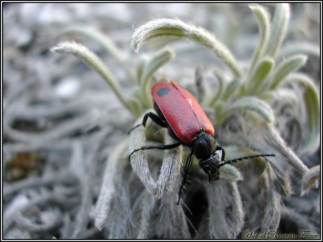
[[(130, 48), (134, 29), (154, 19), (178, 18), (208, 30), (229, 47), (242, 67), (259, 37), (256, 19), (243, 3), (2, 3), (2, 7), (4, 238), (108, 236), (93, 225), (95, 199), (105, 157), (127, 137), (135, 117), (94, 70), (49, 48), (67, 40), (81, 42), (103, 59), (126, 93), (132, 93), (134, 83), (99, 43), (80, 34), (62, 34), (66, 28), (103, 32), (130, 66), (165, 45), (144, 45), (139, 54)], [(273, 16), (274, 7), (264, 7)], [(290, 9), (285, 42), (319, 46), (320, 5), (295, 3)], [(171, 47), (176, 58), (160, 69), (160, 77), (193, 85), (198, 64), (206, 79), (211, 67), (221, 68), (217, 58), (189, 41)], [(309, 58), (303, 70), (320, 87), (320, 62)], [(317, 152), (308, 157), (309, 167), (317, 164)], [(78, 157), (83, 157), (81, 163)], [(95, 167), (88, 169), (93, 161)], [(85, 179), (78, 180), (82, 176)], [(94, 194), (92, 199), (87, 193)]]

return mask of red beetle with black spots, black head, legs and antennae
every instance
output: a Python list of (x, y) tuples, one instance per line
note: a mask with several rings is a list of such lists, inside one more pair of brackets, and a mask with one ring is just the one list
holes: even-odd
[[(174, 149), (180, 145), (191, 148), (179, 191), (178, 205), (194, 155), (200, 159), (199, 165), (208, 175), (209, 183), (219, 179), (219, 169), (225, 164), (254, 157), (275, 156), (275, 154), (257, 154), (225, 161), (225, 150), (216, 143), (214, 138), (215, 131), (211, 121), (189, 91), (185, 90), (177, 82), (164, 78), (153, 85), (151, 95), (153, 107), (157, 114), (147, 112), (143, 117), (142, 123), (132, 128), (129, 133), (141, 125), (145, 127), (147, 119), (150, 117), (155, 124), (167, 128), (168, 133), (177, 143), (142, 146), (131, 152), (129, 162), (131, 155), (139, 150), (166, 150)], [(216, 153), (217, 151), (222, 151), (221, 158)]]

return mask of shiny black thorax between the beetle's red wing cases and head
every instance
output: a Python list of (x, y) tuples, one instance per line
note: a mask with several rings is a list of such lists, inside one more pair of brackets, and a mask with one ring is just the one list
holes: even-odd
[(192, 148), (196, 158), (206, 160), (216, 152), (217, 144), (211, 134), (202, 131), (192, 142)]

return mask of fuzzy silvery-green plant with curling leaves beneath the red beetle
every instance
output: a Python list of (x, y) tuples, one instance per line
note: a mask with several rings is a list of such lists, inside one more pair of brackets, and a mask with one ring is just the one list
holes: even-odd
[[(201, 66), (196, 69), (196, 96), (211, 116), (217, 143), (226, 150), (227, 159), (259, 153), (276, 156), (225, 165), (220, 169), (220, 179), (212, 184), (194, 159), (179, 206), (182, 161), (187, 159), (189, 149), (179, 146), (166, 151), (138, 151), (128, 161), (129, 154), (141, 146), (175, 143), (166, 129), (148, 121), (146, 127), (134, 129), (106, 158), (94, 216), (96, 228), (105, 237), (241, 238), (244, 231), (264, 234), (282, 230), (283, 221), (293, 221), (296, 230), (319, 232), (317, 203), (310, 205), (312, 216), (306, 216), (291, 199), (294, 196), (306, 201), (312, 188), (318, 187), (319, 166), (308, 167), (300, 157), (311, 156), (320, 145), (319, 95), (311, 77), (299, 70), (308, 56), (319, 56), (319, 48), (300, 43), (284, 45), (290, 20), (288, 4), (277, 3), (272, 20), (261, 6), (251, 5), (250, 10), (258, 22), (259, 40), (247, 67), (212, 33), (178, 19), (157, 19), (140, 26), (135, 29), (131, 46), (137, 53), (146, 42), (155, 40), (189, 40), (192, 45), (204, 47), (223, 66), (217, 67), (214, 62), (213, 69), (207, 70), (214, 74), (211, 82), (203, 78)], [(141, 124), (143, 115), (153, 111), (150, 90), (156, 78), (163, 77), (158, 71), (165, 64), (172, 65), (175, 51), (161, 49), (130, 64), (98, 31), (69, 28), (65, 33), (95, 39), (126, 71), (134, 83), (130, 95), (85, 46), (63, 42), (51, 48), (53, 52), (71, 53), (97, 71), (125, 109), (137, 118), (135, 122), (129, 119), (131, 126)], [(181, 80), (174, 81), (181, 84)], [(77, 162), (81, 154), (77, 144), (75, 147)], [(82, 172), (85, 180), (81, 184), (90, 183), (87, 171)], [(82, 204), (87, 203), (82, 200)], [(83, 213), (76, 217), (78, 226), (72, 237), (82, 237), (87, 208), (84, 205)]]

